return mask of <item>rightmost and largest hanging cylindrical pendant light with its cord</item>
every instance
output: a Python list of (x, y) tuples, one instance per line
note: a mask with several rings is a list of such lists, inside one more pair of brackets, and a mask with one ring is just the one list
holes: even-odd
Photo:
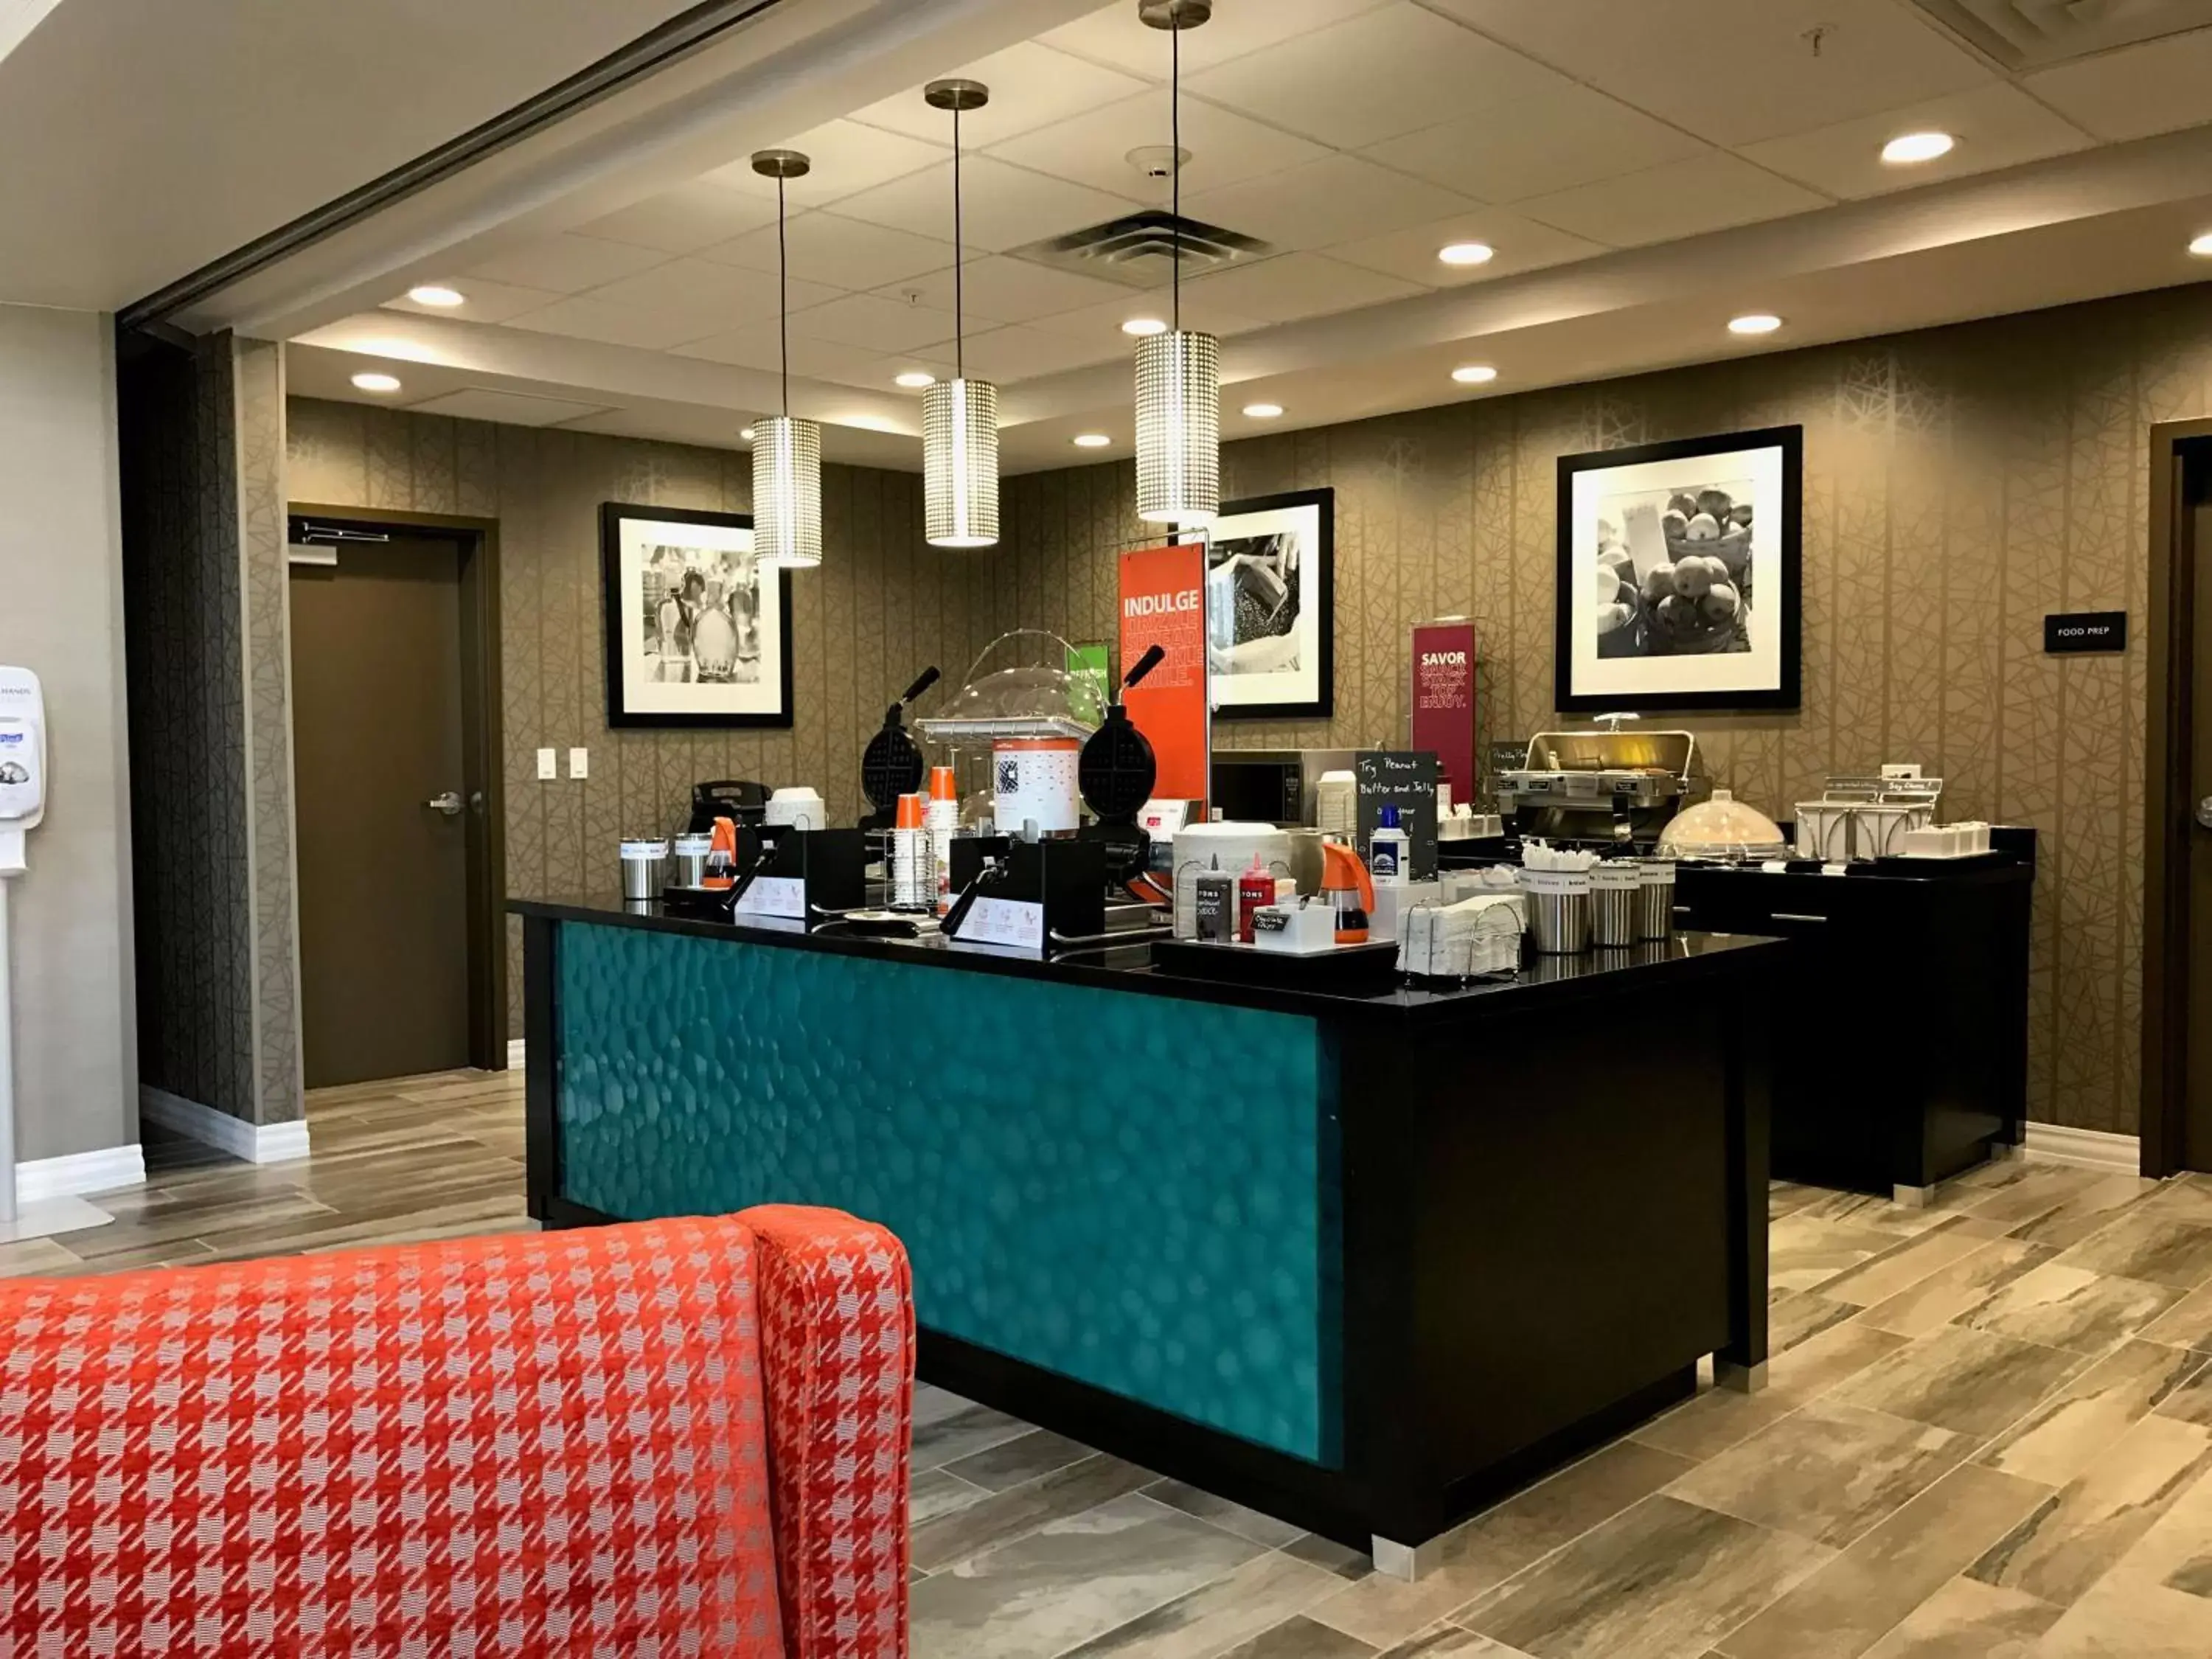
[(1168, 124), (1175, 166), (1175, 294), (1166, 334), (1137, 343), (1137, 518), (1210, 524), (1221, 511), (1221, 341), (1183, 327), (1183, 29), (1214, 15), (1212, 0), (1137, 0), (1150, 29), (1168, 31)]

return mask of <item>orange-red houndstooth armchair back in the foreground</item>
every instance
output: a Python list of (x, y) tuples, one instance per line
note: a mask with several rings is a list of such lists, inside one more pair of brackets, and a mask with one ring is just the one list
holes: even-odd
[(896, 1659), (911, 1409), (836, 1210), (0, 1281), (0, 1655)]

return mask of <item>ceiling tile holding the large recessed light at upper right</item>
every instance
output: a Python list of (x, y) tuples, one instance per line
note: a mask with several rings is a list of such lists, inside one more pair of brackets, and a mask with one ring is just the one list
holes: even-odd
[[(1900, 133), (1951, 133), (1951, 155), (1916, 166), (1882, 161), (1882, 144)], [(1832, 197), (1874, 197), (1938, 179), (2039, 161), (2090, 144), (2077, 126), (2004, 82), (1953, 93), (1887, 115), (1863, 115), (1814, 133), (1743, 146), (1743, 157)]]

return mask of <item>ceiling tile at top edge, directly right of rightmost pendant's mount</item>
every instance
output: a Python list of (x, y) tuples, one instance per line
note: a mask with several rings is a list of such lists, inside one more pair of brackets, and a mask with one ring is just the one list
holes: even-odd
[(1208, 102), (1338, 148), (1557, 84), (1555, 71), (1407, 0), (1183, 75), (1183, 86)]

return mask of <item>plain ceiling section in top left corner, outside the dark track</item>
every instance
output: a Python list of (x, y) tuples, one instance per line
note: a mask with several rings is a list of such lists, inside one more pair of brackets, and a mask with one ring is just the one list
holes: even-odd
[[(0, 301), (113, 310), (142, 299), (566, 80), (688, 2), (9, 7)], [(11, 42), (27, 18), (33, 27)]]

